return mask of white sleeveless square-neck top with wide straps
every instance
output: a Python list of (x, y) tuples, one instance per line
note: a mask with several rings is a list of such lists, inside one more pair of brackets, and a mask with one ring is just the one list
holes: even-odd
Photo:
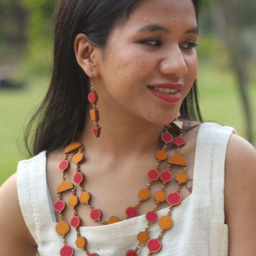
[[(166, 230), (162, 249), (153, 255), (163, 256), (221, 256), (227, 255), (227, 225), (224, 224), (224, 165), (226, 146), (231, 127), (212, 123), (200, 125), (196, 141), (193, 192), (174, 207), (173, 226)], [(61, 235), (55, 231), (53, 204), (46, 183), (46, 152), (19, 162), (17, 171), (19, 203), (26, 225), (38, 245), (41, 256), (60, 255), (63, 246)], [(167, 209), (158, 211), (166, 215)], [(138, 244), (137, 234), (147, 226), (145, 215), (105, 226), (79, 227), (87, 238), (87, 249), (100, 256), (124, 256)], [(158, 223), (149, 229), (151, 238), (160, 233)], [(76, 233), (71, 227), (67, 234), (68, 245), (74, 255), (86, 255), (76, 248)], [(148, 254), (143, 244), (138, 255)]]

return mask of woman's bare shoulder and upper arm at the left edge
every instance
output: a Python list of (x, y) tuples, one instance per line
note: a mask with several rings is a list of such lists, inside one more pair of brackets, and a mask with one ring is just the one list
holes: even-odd
[(0, 187), (0, 255), (32, 256), (37, 247), (22, 216), (16, 180), (15, 173)]

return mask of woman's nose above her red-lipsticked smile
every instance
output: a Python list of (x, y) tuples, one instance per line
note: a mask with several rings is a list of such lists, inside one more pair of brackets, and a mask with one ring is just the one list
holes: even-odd
[(167, 49), (167, 54), (165, 52), (165, 57), (159, 63), (159, 71), (162, 74), (176, 77), (187, 74), (188, 67), (178, 45)]

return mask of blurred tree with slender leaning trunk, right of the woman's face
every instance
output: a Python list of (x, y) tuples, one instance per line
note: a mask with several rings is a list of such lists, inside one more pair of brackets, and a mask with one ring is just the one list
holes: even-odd
[(249, 0), (243, 2), (216, 0), (212, 3), (215, 30), (226, 43), (226, 49), (229, 51), (230, 64), (236, 76), (239, 95), (244, 106), (246, 136), (250, 142), (253, 142), (253, 120), (247, 87), (249, 83), (248, 64), (252, 49), (246, 47), (244, 32), (246, 26), (255, 22), (254, 16), (250, 16), (251, 8), (254, 7), (256, 10), (255, 1)]

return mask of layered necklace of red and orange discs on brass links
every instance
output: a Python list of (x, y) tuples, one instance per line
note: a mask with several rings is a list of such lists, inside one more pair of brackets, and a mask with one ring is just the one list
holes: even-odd
[[(152, 182), (161, 180), (162, 185), (159, 188), (159, 191), (155, 192), (154, 194), (154, 200), (155, 200), (155, 206), (152, 209), (152, 211), (147, 212), (146, 214), (146, 227), (144, 230), (140, 231), (137, 240), (138, 244), (135, 246), (134, 249), (129, 249), (125, 256), (138, 256), (138, 251), (140, 247), (143, 244), (147, 245), (148, 248), (148, 256), (151, 256), (154, 252), (159, 252), (162, 248), (161, 244), (161, 238), (163, 237), (164, 231), (167, 229), (170, 229), (173, 225), (173, 220), (170, 218), (170, 214), (172, 213), (173, 206), (176, 206), (180, 204), (181, 202), (181, 196), (179, 194), (180, 188), (182, 184), (185, 184), (188, 180), (186, 170), (187, 170), (187, 162), (186, 160), (180, 155), (180, 148), (184, 146), (185, 139), (182, 138), (182, 122), (178, 121), (176, 118), (175, 121), (170, 123), (169, 125), (166, 125), (164, 132), (161, 135), (161, 140), (163, 142), (163, 147), (158, 150), (155, 154), (155, 157), (157, 159), (157, 163), (155, 167), (148, 171), (147, 177), (148, 177), (148, 184), (145, 188), (142, 188), (138, 192), (139, 200), (135, 204), (135, 206), (130, 206), (125, 210), (126, 213), (126, 219), (134, 218), (138, 216), (138, 207), (141, 206), (142, 202), (144, 200), (149, 199), (150, 197), (150, 187)], [(175, 129), (179, 132), (179, 135), (173, 139), (172, 135), (169, 133), (169, 129)], [(159, 173), (158, 169), (161, 165), (161, 162), (165, 161), (168, 156), (166, 153), (167, 145), (172, 142), (176, 145), (176, 154), (172, 157), (169, 157), (166, 163), (166, 168), (164, 171)], [(74, 173), (73, 181), (67, 181), (66, 172), (71, 171), (69, 169), (69, 162), (68, 158), (71, 153), (75, 153), (72, 161), (76, 165), (76, 170)], [(59, 165), (59, 169), (62, 173), (62, 181), (57, 187), (57, 195), (58, 200), (54, 204), (54, 210), (59, 212), (59, 223), (56, 225), (56, 232), (60, 234), (63, 237), (63, 247), (60, 249), (60, 255), (61, 256), (72, 256), (74, 255), (74, 248), (70, 245), (68, 245), (66, 234), (69, 232), (70, 226), (75, 229), (76, 231), (76, 246), (78, 248), (81, 248), (86, 255), (88, 256), (99, 256), (97, 253), (90, 253), (86, 246), (87, 246), (87, 239), (83, 236), (81, 236), (79, 232), (79, 226), (80, 226), (80, 218), (78, 217), (78, 212), (76, 210), (76, 207), (78, 203), (86, 204), (90, 208), (90, 218), (94, 221), (101, 222), (103, 225), (109, 225), (115, 222), (122, 221), (117, 216), (112, 216), (108, 220), (103, 220), (101, 218), (101, 210), (94, 208), (90, 204), (90, 198), (91, 195), (86, 189), (83, 187), (83, 181), (84, 181), (84, 174), (80, 172), (80, 164), (84, 161), (83, 156), (83, 146), (80, 142), (72, 142), (67, 148), (65, 148), (64, 151), (64, 159)], [(177, 188), (176, 191), (173, 193), (169, 193), (169, 195), (166, 195), (165, 188), (168, 182), (172, 180), (172, 173), (170, 172), (171, 165), (179, 165), (181, 166), (181, 172), (179, 172), (176, 175), (176, 181), (177, 181)], [(80, 192), (79, 195), (76, 192), (75, 186), (72, 182), (75, 182), (79, 188)], [(68, 202), (65, 203), (62, 200), (62, 193), (70, 191), (70, 197), (68, 199)], [(161, 218), (158, 218), (157, 215), (157, 208), (159, 204), (162, 202), (169, 203), (170, 207), (168, 211), (166, 212), (166, 215), (162, 216)], [(68, 204), (69, 207), (72, 208), (74, 214), (69, 223), (65, 221), (64, 218), (64, 208)], [(150, 238), (148, 234), (148, 230), (150, 229), (151, 223), (156, 222), (158, 220), (159, 225), (159, 235), (156, 238)]]

